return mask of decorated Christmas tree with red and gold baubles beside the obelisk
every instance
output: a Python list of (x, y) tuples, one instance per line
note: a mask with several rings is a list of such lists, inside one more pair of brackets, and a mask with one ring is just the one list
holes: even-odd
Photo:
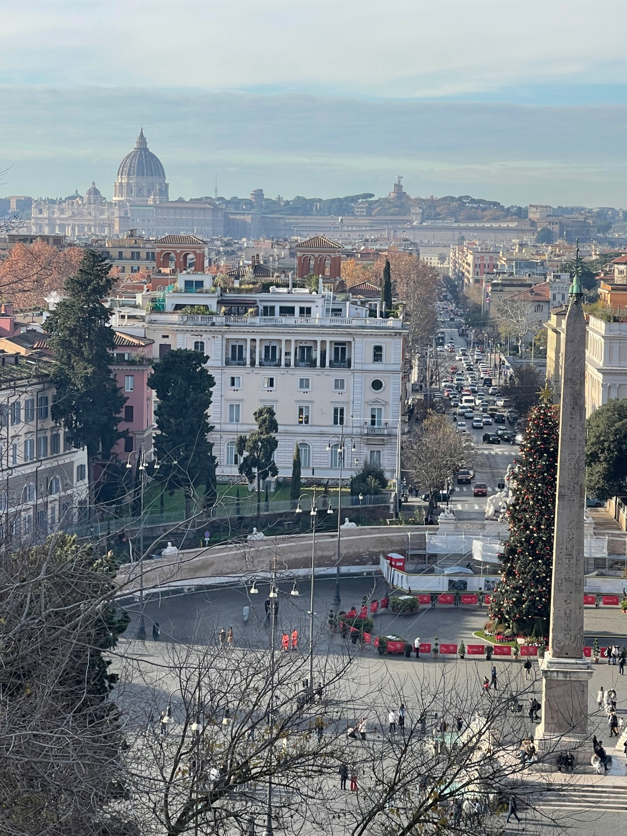
[[(558, 472), (558, 407), (548, 387), (528, 415), (520, 457), (512, 471), (509, 540), (490, 617), (516, 635), (548, 636), (553, 570), (553, 523)], [(515, 482), (515, 483), (514, 483)]]

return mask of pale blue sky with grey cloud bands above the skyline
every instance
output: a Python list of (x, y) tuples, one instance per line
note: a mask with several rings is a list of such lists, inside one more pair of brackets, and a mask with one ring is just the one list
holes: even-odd
[(0, 195), (625, 206), (624, 0), (0, 0)]

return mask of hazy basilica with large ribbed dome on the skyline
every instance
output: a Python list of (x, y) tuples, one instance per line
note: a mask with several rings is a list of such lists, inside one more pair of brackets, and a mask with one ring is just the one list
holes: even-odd
[(202, 238), (224, 234), (224, 212), (211, 198), (171, 201), (166, 171), (150, 151), (144, 136), (121, 161), (113, 200), (107, 201), (95, 183), (85, 196), (78, 191), (61, 199), (33, 201), (28, 228), (33, 235), (62, 234), (70, 240), (124, 236), (134, 229), (145, 237), (190, 233)]

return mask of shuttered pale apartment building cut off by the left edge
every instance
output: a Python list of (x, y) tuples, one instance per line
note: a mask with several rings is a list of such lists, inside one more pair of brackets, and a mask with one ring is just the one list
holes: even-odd
[(42, 538), (68, 528), (87, 504), (87, 453), (52, 420), (49, 362), (0, 358), (0, 532)]

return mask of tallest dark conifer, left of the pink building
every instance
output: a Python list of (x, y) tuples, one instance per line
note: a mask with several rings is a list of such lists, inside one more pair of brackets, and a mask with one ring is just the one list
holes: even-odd
[(98, 252), (87, 250), (78, 273), (65, 283), (64, 298), (44, 325), (54, 354), (52, 380), (57, 397), (54, 421), (65, 427), (66, 440), (87, 447), (89, 487), (94, 486), (94, 459), (110, 456), (125, 395), (111, 374), (114, 331), (110, 309), (101, 302), (113, 287), (111, 265)]

